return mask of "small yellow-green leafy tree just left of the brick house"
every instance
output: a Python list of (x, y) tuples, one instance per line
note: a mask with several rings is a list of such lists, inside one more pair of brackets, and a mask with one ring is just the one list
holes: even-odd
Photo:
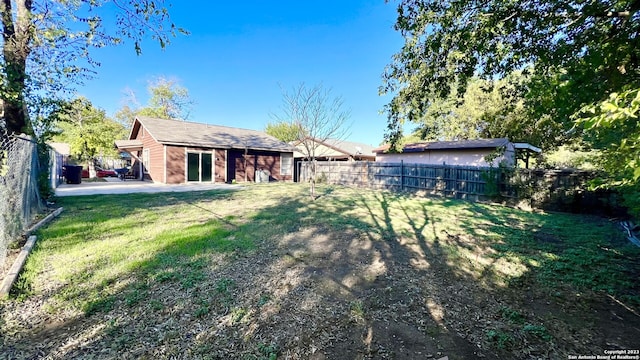
[(109, 119), (104, 110), (94, 107), (86, 98), (67, 103), (58, 118), (59, 134), (54, 139), (68, 143), (71, 155), (89, 163), (91, 177), (96, 176), (96, 158), (99, 155), (116, 156), (113, 143), (126, 136), (121, 124)]

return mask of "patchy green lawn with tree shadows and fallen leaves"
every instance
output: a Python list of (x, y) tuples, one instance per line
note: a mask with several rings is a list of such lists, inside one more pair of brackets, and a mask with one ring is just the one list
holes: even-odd
[(319, 193), (61, 198), (0, 303), (0, 340), (54, 358), (566, 358), (614, 337), (633, 345), (600, 331), (609, 312), (629, 329), (640, 318), (640, 251), (606, 219)]

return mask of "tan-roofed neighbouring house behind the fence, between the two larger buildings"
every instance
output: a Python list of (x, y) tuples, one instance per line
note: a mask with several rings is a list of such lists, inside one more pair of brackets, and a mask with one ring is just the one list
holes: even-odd
[(305, 161), (309, 155), (307, 149), (314, 149), (313, 153), (317, 161), (375, 161), (376, 159), (373, 146), (353, 141), (319, 140), (308, 137), (291, 144), (297, 149), (293, 152), (294, 168), (296, 169), (294, 181), (298, 181), (299, 164)]

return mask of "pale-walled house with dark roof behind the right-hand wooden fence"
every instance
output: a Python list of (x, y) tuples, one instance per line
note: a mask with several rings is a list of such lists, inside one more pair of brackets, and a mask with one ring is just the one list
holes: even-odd
[[(413, 163), (433, 165), (461, 165), (461, 166), (515, 166), (516, 159), (525, 157), (528, 166), (529, 154), (539, 153), (541, 150), (526, 143), (512, 143), (507, 138), (475, 139), (460, 141), (433, 141), (406, 144), (399, 153), (388, 151), (385, 145), (374, 149), (376, 162)], [(516, 155), (518, 153), (518, 156)], [(487, 156), (495, 158), (487, 162)]]

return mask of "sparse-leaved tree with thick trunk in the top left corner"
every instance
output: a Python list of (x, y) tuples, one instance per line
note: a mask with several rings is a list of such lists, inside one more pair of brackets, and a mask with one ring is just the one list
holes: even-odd
[[(98, 15), (102, 10), (116, 13), (115, 24)], [(129, 39), (140, 54), (146, 36), (164, 47), (186, 33), (170, 21), (164, 0), (2, 0), (0, 14), (2, 125), (9, 133), (33, 133), (29, 114), (41, 107), (43, 117), (47, 109), (42, 94), (62, 97), (91, 76), (99, 65), (92, 49)]]

